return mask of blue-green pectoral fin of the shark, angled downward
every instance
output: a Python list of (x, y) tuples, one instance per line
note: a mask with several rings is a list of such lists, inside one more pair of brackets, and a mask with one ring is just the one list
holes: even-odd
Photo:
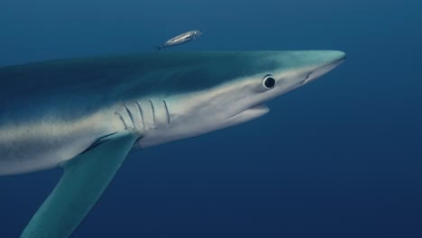
[(101, 197), (138, 138), (127, 131), (115, 133), (64, 164), (59, 183), (21, 237), (69, 237)]

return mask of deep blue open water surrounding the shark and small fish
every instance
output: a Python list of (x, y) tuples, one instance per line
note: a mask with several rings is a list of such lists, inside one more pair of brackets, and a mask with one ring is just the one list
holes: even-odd
[[(203, 36), (172, 50), (344, 50), (260, 119), (133, 153), (74, 237), (422, 237), (421, 12), (416, 0), (2, 0), (0, 65), (149, 51), (192, 29)], [(0, 237), (58, 178), (0, 178)]]

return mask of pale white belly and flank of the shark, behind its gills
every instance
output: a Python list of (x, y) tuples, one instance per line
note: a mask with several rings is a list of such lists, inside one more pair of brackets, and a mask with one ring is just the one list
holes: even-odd
[(72, 122), (41, 121), (0, 128), (0, 175), (57, 167), (122, 127), (115, 117), (99, 113)]

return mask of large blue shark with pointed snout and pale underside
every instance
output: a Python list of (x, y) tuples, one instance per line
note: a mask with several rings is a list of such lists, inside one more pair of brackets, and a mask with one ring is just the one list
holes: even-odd
[(69, 237), (134, 150), (269, 112), (342, 51), (180, 51), (0, 68), (0, 175), (62, 168), (21, 237)]

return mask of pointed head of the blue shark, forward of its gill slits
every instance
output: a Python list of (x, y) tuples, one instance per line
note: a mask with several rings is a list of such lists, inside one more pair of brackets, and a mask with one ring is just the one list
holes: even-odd
[(160, 96), (170, 124), (146, 133), (140, 144), (174, 141), (260, 117), (269, 112), (265, 102), (319, 78), (344, 59), (344, 52), (334, 50), (180, 55), (179, 64), (188, 68), (166, 70), (177, 85)]

